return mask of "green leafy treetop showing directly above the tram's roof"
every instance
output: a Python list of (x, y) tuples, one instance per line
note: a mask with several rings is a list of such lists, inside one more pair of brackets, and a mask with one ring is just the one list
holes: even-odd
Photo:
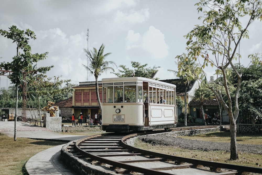
[(118, 77), (130, 77), (131, 73), (135, 73), (135, 76), (137, 77), (145, 77), (145, 78), (150, 78), (150, 79), (155, 79), (158, 80), (159, 78), (153, 78), (155, 74), (158, 71), (158, 68), (160, 66), (154, 66), (153, 68), (151, 67), (146, 67), (148, 64), (141, 65), (141, 63), (136, 62), (136, 61), (131, 61), (132, 67), (134, 70), (127, 68), (125, 65), (120, 65), (123, 70), (118, 70), (119, 72), (113, 73), (114, 75)]

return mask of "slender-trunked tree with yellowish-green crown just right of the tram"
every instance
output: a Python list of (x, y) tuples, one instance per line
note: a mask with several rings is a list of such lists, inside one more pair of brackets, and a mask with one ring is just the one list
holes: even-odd
[(180, 79), (176, 82), (179, 84), (185, 85), (185, 94), (184, 94), (184, 104), (185, 104), (185, 116), (184, 116), (184, 124), (187, 126), (187, 91), (192, 87), (192, 83), (195, 81), (195, 76), (191, 70), (194, 70), (198, 67), (198, 64), (194, 62), (192, 57), (183, 54), (178, 55), (176, 57), (178, 59), (177, 65), (178, 65), (178, 71), (174, 70), (168, 70), (170, 72), (173, 72), (174, 75), (179, 77)]

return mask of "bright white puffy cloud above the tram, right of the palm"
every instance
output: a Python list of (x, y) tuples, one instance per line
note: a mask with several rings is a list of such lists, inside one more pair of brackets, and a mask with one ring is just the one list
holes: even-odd
[(128, 31), (126, 37), (127, 49), (144, 50), (149, 57), (154, 59), (163, 59), (168, 55), (168, 46), (165, 42), (165, 35), (154, 26), (150, 26), (142, 36), (134, 33), (133, 30)]

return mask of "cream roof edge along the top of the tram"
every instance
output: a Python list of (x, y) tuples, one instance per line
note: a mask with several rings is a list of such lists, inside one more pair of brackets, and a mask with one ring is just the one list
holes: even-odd
[(103, 78), (102, 83), (104, 82), (112, 82), (112, 81), (120, 81), (120, 82), (127, 82), (127, 81), (146, 81), (146, 82), (152, 82), (156, 84), (162, 84), (170, 87), (175, 87), (175, 84), (163, 82), (163, 81), (158, 81), (150, 78), (144, 78), (144, 77), (116, 77), (116, 78)]

